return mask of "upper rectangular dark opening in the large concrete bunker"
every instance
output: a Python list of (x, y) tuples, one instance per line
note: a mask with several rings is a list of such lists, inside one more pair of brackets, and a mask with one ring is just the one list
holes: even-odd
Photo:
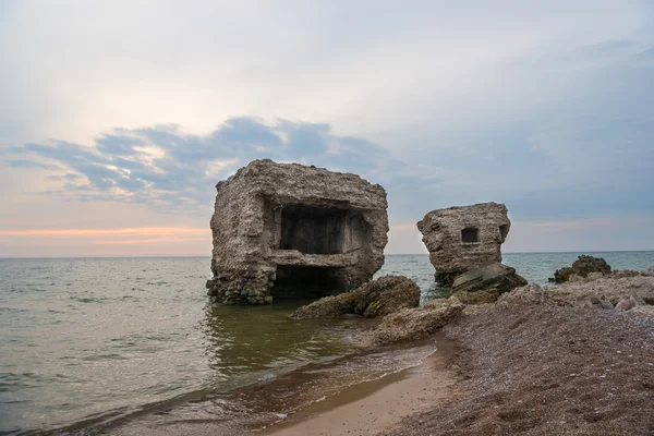
[(298, 250), (304, 254), (343, 252), (346, 210), (303, 205), (281, 210), (279, 250)]

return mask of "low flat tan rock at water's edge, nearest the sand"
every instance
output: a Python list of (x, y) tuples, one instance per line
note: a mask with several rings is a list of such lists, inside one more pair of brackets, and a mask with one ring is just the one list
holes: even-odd
[(426, 338), (459, 316), (465, 305), (456, 298), (426, 302), (420, 307), (403, 308), (386, 316), (365, 341), (377, 346), (414, 341)]

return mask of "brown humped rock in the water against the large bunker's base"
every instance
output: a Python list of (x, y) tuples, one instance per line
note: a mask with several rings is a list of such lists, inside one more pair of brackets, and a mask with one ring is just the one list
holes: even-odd
[(335, 296), (326, 296), (300, 307), (298, 319), (337, 318), (356, 314), (366, 318), (383, 317), (407, 307), (417, 307), (420, 288), (403, 276), (384, 276), (361, 288)]

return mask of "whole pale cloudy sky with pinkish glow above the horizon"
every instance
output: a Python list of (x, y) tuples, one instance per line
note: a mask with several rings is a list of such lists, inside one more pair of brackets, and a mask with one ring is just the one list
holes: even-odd
[(210, 255), (257, 158), (382, 184), (387, 253), (654, 250), (647, 0), (0, 0), (0, 257)]

